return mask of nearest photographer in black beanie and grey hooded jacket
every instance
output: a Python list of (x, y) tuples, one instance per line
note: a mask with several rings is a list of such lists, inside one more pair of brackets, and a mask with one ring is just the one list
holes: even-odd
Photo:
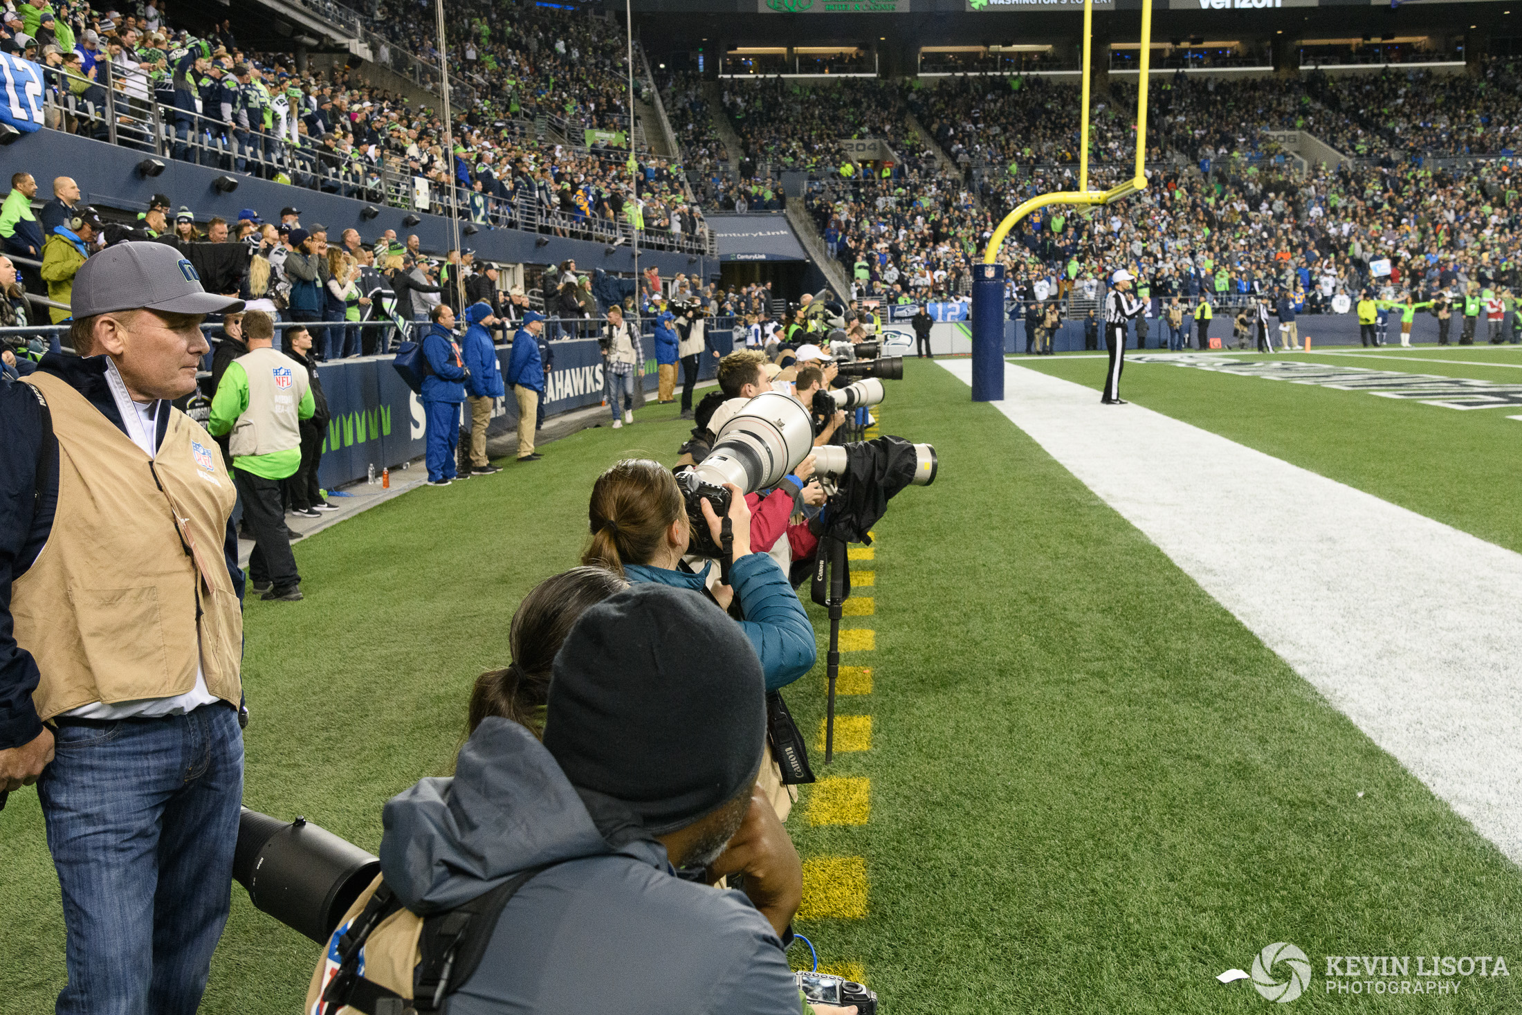
[[(454, 778), (385, 808), (374, 898), (429, 916), (502, 890), (473, 972), (419, 985), (419, 922), (396, 908), (365, 939), (362, 980), (358, 956), (347, 972), (333, 962), (335, 931), (303, 1010), (335, 985), (371, 998), (434, 986), (454, 1015), (807, 1012), (784, 951), (802, 866), (753, 791), (764, 688), (744, 633), (700, 595), (641, 584), (589, 607), (556, 656), (542, 744), (486, 718)], [(744, 873), (744, 893), (674, 867)], [(345, 924), (384, 912), (359, 905)]]

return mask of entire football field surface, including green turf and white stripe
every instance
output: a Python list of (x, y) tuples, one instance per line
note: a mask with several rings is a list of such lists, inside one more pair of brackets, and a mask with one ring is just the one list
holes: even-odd
[[(878, 412), (941, 466), (852, 552), (837, 755), (788, 819), (820, 965), (886, 1015), (1522, 1010), (1522, 352), (1155, 353), (1129, 406), (1100, 358), (1012, 358), (1001, 405), (968, 370), (907, 361)], [(674, 415), (298, 543), (306, 601), (247, 607), (247, 805), (374, 851)], [(33, 791), (0, 843), (0, 991), (50, 1010)], [(1277, 943), (1306, 963), (1254, 968)], [(234, 886), (202, 1010), (295, 1012), (317, 957)]]

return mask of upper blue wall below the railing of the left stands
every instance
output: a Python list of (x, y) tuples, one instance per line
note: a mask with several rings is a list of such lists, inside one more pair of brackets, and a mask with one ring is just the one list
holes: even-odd
[[(148, 208), (152, 195), (166, 193), (177, 208), (180, 205), (189, 207), (201, 222), (213, 215), (236, 222), (240, 208), (254, 208), (266, 221), (279, 222), (280, 208), (291, 205), (301, 208), (303, 224), (321, 222), (326, 225), (329, 239), (333, 242), (345, 228), (359, 230), (359, 236), (367, 243), (374, 242), (385, 230), (391, 228), (403, 239), (408, 233), (417, 233), (423, 250), (431, 254), (443, 254), (452, 247), (449, 219), (441, 215), (419, 212), (422, 222), (406, 227), (402, 225), (402, 218), (408, 215), (406, 208), (376, 204), (380, 215), (365, 221), (359, 218), (361, 208), (365, 207), (364, 201), (256, 180), (228, 170), (207, 169), (172, 158), (160, 160), (164, 163), (163, 173), (143, 178), (137, 173), (137, 163), (145, 158), (149, 155), (129, 148), (41, 129), (23, 134), (14, 143), (0, 148), (0, 175), (3, 175), (0, 186), (8, 187), (12, 173), (29, 172), (37, 177), (37, 199), (49, 201), (53, 196), (53, 177), (73, 177), (87, 202), (139, 212)], [(219, 193), (212, 187), (212, 181), (227, 175), (237, 180), (237, 190)], [(539, 239), (549, 242), (545, 247), (534, 247)], [(466, 247), (473, 247), (476, 257), (484, 260), (549, 265), (574, 259), (577, 268), (583, 271), (603, 268), (632, 272), (635, 269), (635, 256), (627, 243), (613, 248), (612, 254), (604, 254), (607, 245), (601, 242), (540, 236), (522, 230), (489, 230), (486, 227), (481, 227), (475, 236), (463, 236), (461, 242)], [(688, 263), (688, 257), (689, 254), (641, 251), (639, 268), (654, 265), (661, 269), (662, 277), (697, 272), (703, 278), (718, 278), (717, 257), (699, 257), (694, 263)]]

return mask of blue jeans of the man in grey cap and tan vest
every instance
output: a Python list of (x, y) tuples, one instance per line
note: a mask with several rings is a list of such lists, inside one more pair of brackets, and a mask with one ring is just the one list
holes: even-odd
[(65, 721), (55, 750), (37, 790), (64, 896), (59, 1015), (192, 1015), (231, 904), (237, 712)]

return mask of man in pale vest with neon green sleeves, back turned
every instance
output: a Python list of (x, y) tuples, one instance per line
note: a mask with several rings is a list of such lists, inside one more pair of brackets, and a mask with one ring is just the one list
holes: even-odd
[(244, 315), (248, 352), (234, 359), (216, 385), (213, 437), (231, 432), (233, 481), (244, 499), (244, 525), (254, 537), (248, 577), (262, 600), (301, 598), (301, 575), (285, 527), (280, 481), (301, 467), (301, 420), (317, 402), (303, 364), (274, 350), (274, 321), (263, 310)]

